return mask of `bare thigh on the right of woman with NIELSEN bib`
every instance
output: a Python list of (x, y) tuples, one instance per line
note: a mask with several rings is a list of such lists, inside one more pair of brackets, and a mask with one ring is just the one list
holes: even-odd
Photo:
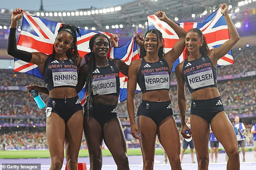
[(235, 130), (224, 111), (218, 113), (212, 119), (211, 128), (214, 136), (223, 145), (225, 150), (232, 150), (234, 147), (238, 148)]

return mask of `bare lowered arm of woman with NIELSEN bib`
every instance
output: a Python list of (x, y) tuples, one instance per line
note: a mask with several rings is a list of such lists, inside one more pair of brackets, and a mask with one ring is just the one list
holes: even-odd
[(177, 89), (178, 89), (178, 108), (180, 112), (180, 124), (181, 124), (181, 135), (188, 139), (189, 136), (185, 133), (186, 131), (189, 131), (189, 135), (191, 135), (191, 131), (189, 127), (187, 126), (185, 119), (186, 119), (186, 110), (187, 110), (187, 99), (185, 95), (185, 81), (182, 75), (182, 68), (183, 63), (180, 63), (175, 68), (175, 75), (177, 80)]

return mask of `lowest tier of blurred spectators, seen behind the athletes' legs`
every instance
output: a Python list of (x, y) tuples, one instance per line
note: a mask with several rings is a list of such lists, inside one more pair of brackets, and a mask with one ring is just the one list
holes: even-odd
[[(253, 145), (253, 136), (250, 133), (252, 124), (244, 124), (246, 127), (245, 145)], [(130, 126), (123, 126), (124, 135), (126, 137), (126, 145), (128, 149), (139, 148), (140, 144), (130, 134)], [(180, 127), (178, 127), (180, 134)], [(180, 135), (180, 144), (183, 145), (183, 137)], [(162, 147), (160, 142), (156, 140), (155, 147)], [(26, 150), (26, 149), (48, 149), (45, 128), (34, 128), (33, 130), (0, 130), (0, 150)], [(83, 134), (80, 149), (87, 149), (85, 137)], [(107, 149), (103, 143), (103, 149)]]

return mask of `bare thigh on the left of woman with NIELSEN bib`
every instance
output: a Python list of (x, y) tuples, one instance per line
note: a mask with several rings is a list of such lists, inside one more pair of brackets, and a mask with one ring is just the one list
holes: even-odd
[(205, 157), (208, 155), (208, 142), (210, 137), (210, 125), (209, 123), (196, 115), (190, 115), (190, 123), (191, 123), (191, 134), (193, 138), (193, 143), (195, 146), (195, 151), (197, 153), (197, 157)]

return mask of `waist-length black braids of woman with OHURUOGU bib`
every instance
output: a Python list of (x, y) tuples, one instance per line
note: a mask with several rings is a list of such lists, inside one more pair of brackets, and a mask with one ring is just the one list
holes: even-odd
[(96, 34), (89, 41), (89, 48), (91, 50), (91, 54), (90, 54), (90, 58), (89, 58), (89, 61), (88, 61), (89, 68), (88, 68), (88, 74), (87, 74), (87, 77), (86, 77), (86, 95), (87, 95), (86, 110), (87, 110), (88, 115), (92, 111), (92, 74), (93, 74), (92, 72), (94, 71), (94, 69), (96, 67), (95, 54), (92, 51), (93, 51), (94, 41), (99, 36), (103, 36), (103, 37), (107, 38), (107, 40), (109, 42), (109, 48), (110, 48), (109, 38), (104, 34)]

